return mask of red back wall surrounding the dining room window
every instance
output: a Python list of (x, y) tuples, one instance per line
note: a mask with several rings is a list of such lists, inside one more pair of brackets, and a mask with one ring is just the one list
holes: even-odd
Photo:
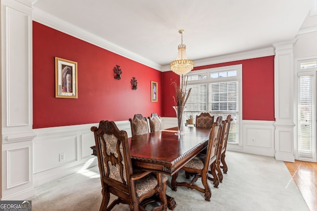
[[(242, 119), (274, 121), (274, 56), (206, 65), (194, 70), (237, 64), (242, 64)], [(177, 75), (171, 71), (163, 73), (162, 83), (166, 84), (162, 105), (164, 117), (175, 117), (172, 108), (175, 90), (172, 85), (167, 85), (171, 78), (179, 82)]]

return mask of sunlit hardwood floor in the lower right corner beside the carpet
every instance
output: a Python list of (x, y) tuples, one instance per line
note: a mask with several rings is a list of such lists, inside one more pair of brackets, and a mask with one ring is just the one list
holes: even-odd
[(317, 211), (317, 163), (284, 162), (311, 211)]

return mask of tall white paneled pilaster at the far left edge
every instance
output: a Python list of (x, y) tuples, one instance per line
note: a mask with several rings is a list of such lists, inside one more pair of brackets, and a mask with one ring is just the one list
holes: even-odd
[(1, 0), (1, 200), (34, 196), (32, 4)]

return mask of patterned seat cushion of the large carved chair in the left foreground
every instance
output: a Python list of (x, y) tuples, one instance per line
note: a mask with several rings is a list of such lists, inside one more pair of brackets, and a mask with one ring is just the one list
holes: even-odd
[[(165, 174), (161, 174), (162, 182), (167, 181), (167, 176)], [(138, 179), (135, 181), (135, 189), (137, 197), (142, 196), (143, 194), (153, 190), (158, 185), (158, 180), (156, 174), (148, 174), (142, 179)]]

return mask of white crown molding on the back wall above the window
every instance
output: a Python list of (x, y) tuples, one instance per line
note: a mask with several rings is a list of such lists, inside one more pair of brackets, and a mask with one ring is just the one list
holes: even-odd
[[(224, 62), (232, 62), (232, 61), (239, 61), (244, 59), (253, 59), (253, 58), (259, 58), (264, 56), (272, 56), (275, 55), (274, 48), (273, 47), (267, 47), (257, 50), (250, 50), (250, 51), (244, 51), (239, 53), (232, 53), (222, 56), (215, 56), (205, 59), (199, 59), (194, 60), (194, 67), (200, 67), (205, 65), (211, 65), (211, 64), (219, 64)], [(170, 71), (170, 66), (165, 65), (162, 67), (162, 72)]]

